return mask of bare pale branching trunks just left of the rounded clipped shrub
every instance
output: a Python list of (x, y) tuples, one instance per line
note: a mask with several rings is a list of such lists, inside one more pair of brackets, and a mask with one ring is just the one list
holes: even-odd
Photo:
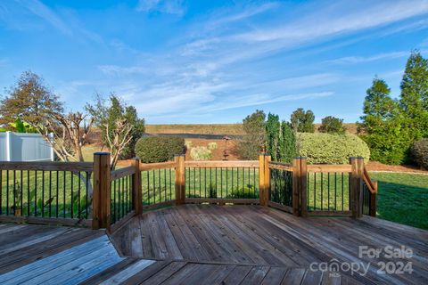
[(110, 126), (108, 123), (104, 125), (106, 133), (112, 134), (106, 135), (111, 152), (111, 170), (116, 167), (120, 154), (133, 139), (133, 126), (128, 122), (128, 119), (118, 118), (113, 124), (115, 126)]

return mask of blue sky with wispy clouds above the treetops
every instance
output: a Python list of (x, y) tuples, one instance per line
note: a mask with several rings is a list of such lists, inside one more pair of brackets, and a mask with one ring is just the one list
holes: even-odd
[(2, 1), (0, 87), (23, 70), (69, 110), (114, 92), (151, 124), (299, 107), (355, 122), (382, 77), (428, 56), (428, 1)]

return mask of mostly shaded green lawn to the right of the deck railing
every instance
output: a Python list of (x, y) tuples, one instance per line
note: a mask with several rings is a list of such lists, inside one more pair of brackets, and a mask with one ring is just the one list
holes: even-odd
[(428, 230), (428, 175), (370, 173), (379, 181), (377, 216)]

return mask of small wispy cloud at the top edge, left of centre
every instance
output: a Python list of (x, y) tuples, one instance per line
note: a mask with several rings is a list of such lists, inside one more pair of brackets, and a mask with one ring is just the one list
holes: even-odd
[(183, 0), (140, 0), (136, 11), (162, 12), (182, 16), (185, 14), (185, 4)]

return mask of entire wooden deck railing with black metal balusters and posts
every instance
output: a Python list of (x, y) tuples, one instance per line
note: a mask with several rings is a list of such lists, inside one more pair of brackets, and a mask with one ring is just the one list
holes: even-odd
[(0, 163), (0, 221), (81, 224), (112, 231), (143, 210), (185, 203), (257, 204), (295, 216), (375, 216), (377, 183), (363, 159), (347, 165), (251, 161)]

